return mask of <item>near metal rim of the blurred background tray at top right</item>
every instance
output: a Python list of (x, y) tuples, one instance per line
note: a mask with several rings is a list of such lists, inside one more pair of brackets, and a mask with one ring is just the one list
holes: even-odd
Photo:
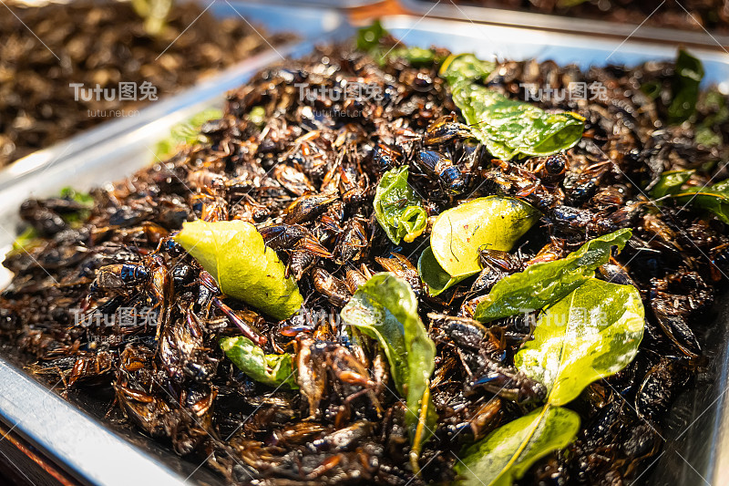
[(551, 16), (501, 8), (476, 5), (456, 5), (451, 0), (398, 0), (408, 14), (430, 16), (453, 20), (465, 20), (499, 26), (521, 26), (547, 29), (554, 32), (584, 32), (598, 36), (612, 36), (619, 39), (648, 40), (673, 45), (697, 46), (725, 50), (729, 36), (705, 30), (678, 30), (665, 27), (619, 24), (605, 20), (594, 20), (567, 16)]

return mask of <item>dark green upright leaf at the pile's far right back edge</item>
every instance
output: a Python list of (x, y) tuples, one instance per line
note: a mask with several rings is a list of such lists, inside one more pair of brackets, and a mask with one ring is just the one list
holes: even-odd
[(679, 49), (673, 76), (673, 101), (668, 107), (668, 120), (674, 125), (691, 118), (699, 99), (703, 65), (687, 51)]

